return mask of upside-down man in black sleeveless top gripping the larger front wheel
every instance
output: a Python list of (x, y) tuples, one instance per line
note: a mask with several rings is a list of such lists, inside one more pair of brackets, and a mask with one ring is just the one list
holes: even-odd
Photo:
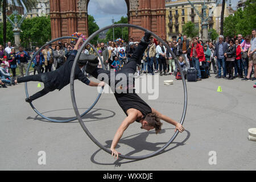
[[(126, 85), (125, 82), (129, 80), (129, 78), (126, 80), (124, 79), (125, 80), (124, 83), (120, 78), (119, 78), (120, 80), (116, 78), (120, 73), (122, 73), (122, 75), (125, 74), (127, 77), (129, 77), (129, 73), (132, 73), (132, 75), (135, 73), (137, 69), (137, 63), (141, 62), (142, 54), (147, 48), (151, 39), (152, 39), (151, 34), (149, 32), (145, 32), (145, 35), (142, 38), (141, 43), (139, 43), (139, 46), (135, 49), (135, 52), (133, 53), (133, 56), (131, 57), (130, 61), (126, 65), (124, 65), (124, 67), (120, 71), (114, 72), (115, 77), (113, 79), (110, 79), (112, 78), (110, 77), (111, 75), (110, 71), (105, 71), (104, 69), (97, 68), (98, 59), (96, 58), (96, 56), (82, 54), (80, 56), (80, 59), (81, 61), (82, 60), (86, 62), (88, 61), (85, 69), (86, 69), (86, 72), (90, 73), (93, 77), (100, 80), (104, 80), (110, 86), (113, 84), (113, 82), (114, 82), (114, 85), (117, 85), (117, 84)], [(101, 73), (108, 75), (109, 79), (105, 80), (105, 78), (102, 79), (98, 77)], [(118, 159), (118, 152), (115, 150), (115, 147), (117, 146), (118, 141), (121, 139), (123, 132), (134, 121), (141, 123), (142, 125), (141, 129), (145, 129), (148, 131), (151, 129), (155, 129), (156, 134), (161, 130), (161, 127), (162, 127), (162, 123), (160, 122), (160, 119), (174, 125), (175, 131), (176, 130), (179, 130), (180, 132), (184, 131), (184, 127), (180, 123), (176, 122), (174, 119), (167, 117), (166, 115), (159, 113), (155, 109), (148, 106), (146, 102), (144, 102), (135, 93), (134, 83), (132, 85), (133, 85), (132, 93), (114, 92), (115, 99), (117, 100), (119, 106), (123, 109), (123, 111), (127, 115), (127, 117), (123, 120), (122, 124), (119, 126), (117, 132), (115, 133), (114, 139), (112, 141), (112, 145), (110, 147), (110, 150), (112, 151), (112, 155), (114, 155), (114, 158), (115, 156), (117, 156), (117, 159)], [(118, 88), (121, 88), (121, 87), (118, 87)], [(130, 85), (128, 85), (126, 88), (130, 89), (129, 87)], [(117, 91), (116, 88), (115, 88), (115, 91)]]

